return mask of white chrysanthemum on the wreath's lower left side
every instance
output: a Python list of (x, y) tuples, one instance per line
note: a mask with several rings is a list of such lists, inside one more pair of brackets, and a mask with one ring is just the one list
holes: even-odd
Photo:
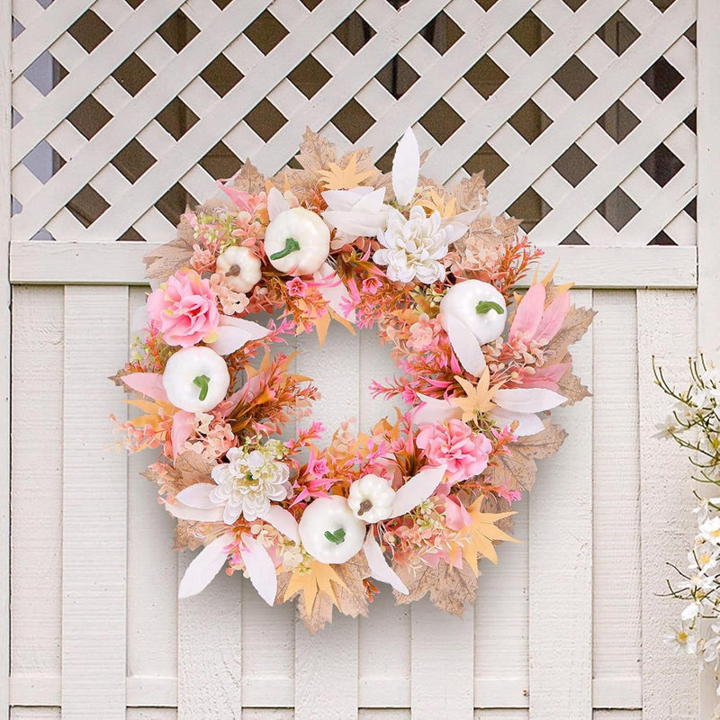
[(212, 480), (218, 487), (210, 493), (211, 502), (225, 503), (222, 519), (232, 525), (241, 515), (255, 520), (270, 509), (270, 502), (285, 500), (293, 493), (290, 470), (280, 462), (283, 446), (270, 440), (255, 450), (232, 447), (228, 451), (229, 463), (212, 469)]

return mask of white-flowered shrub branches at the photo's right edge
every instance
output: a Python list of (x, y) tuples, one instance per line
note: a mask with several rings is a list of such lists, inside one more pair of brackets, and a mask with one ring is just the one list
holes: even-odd
[[(653, 358), (655, 382), (674, 401), (657, 437), (675, 441), (688, 452), (692, 479), (720, 487), (720, 368), (704, 356), (689, 359), (690, 381), (677, 390)], [(702, 666), (720, 673), (720, 497), (695, 492), (693, 510), (698, 534), (688, 548), (687, 563), (668, 581), (671, 596), (685, 601), (678, 626), (666, 635), (672, 651), (697, 655)], [(718, 684), (720, 696), (720, 683)], [(720, 716), (720, 705), (716, 707)]]

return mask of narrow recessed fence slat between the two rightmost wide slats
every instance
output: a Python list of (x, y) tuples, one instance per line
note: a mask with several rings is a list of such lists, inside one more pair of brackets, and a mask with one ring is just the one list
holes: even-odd
[[(637, 429), (637, 322), (633, 291), (593, 293), (593, 680), (641, 686), (640, 468)], [(622, 626), (623, 632), (617, 628)], [(596, 705), (603, 699), (595, 698)]]

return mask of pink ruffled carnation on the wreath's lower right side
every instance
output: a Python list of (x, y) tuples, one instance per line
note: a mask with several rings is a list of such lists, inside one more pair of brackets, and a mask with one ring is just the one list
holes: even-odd
[(450, 483), (482, 473), (492, 451), (487, 437), (473, 433), (457, 419), (422, 426), (415, 444), (425, 451), (430, 464), (447, 465)]

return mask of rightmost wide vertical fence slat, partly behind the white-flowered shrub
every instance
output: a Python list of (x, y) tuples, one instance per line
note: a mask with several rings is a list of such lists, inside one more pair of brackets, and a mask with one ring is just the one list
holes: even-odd
[[(660, 597), (667, 591), (665, 563), (683, 563), (695, 536), (690, 512), (690, 469), (684, 452), (653, 437), (670, 401), (653, 385), (652, 357), (671, 383), (688, 382), (688, 357), (696, 347), (695, 293), (639, 290), (637, 375), (640, 389), (640, 537), (643, 588), (643, 715), (697, 718), (695, 662), (668, 652), (663, 635), (677, 625), (681, 603)], [(684, 563), (683, 563), (684, 564)]]

